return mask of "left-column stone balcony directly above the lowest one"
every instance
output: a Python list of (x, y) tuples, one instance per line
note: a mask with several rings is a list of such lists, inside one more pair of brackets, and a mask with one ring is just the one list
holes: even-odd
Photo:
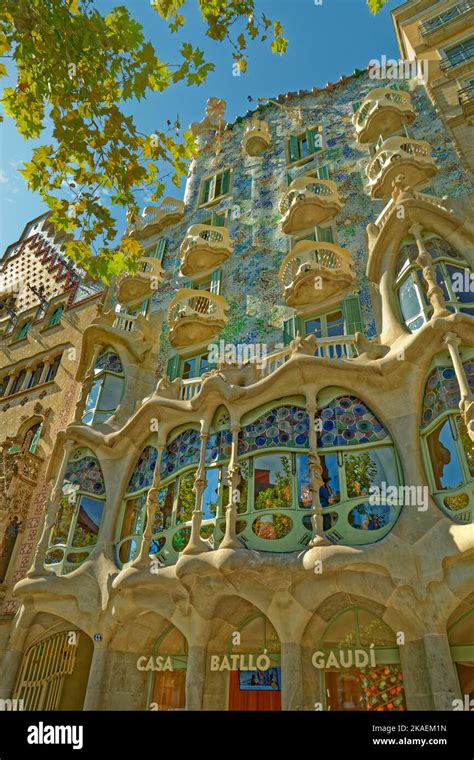
[(216, 267), (232, 253), (229, 231), (225, 227), (193, 224), (186, 233), (179, 253), (181, 272), (185, 276)]

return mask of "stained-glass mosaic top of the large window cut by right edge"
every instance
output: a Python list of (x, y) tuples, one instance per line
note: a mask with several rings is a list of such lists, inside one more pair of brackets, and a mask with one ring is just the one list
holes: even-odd
[[(469, 386), (474, 389), (474, 361), (464, 363)], [(435, 367), (425, 386), (421, 424), (426, 427), (443, 412), (459, 408), (461, 394), (453, 367)]]

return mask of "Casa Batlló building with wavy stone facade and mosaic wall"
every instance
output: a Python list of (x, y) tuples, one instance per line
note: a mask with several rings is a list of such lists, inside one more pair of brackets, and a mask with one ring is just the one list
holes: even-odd
[[(74, 403), (35, 412), (42, 501), (2, 503), (4, 699), (466, 709), (473, 8), (429, 5), (395, 12), (426, 86), (375, 67), (233, 123), (211, 99), (184, 199), (131, 221), (140, 272), (78, 316)], [(12, 523), (40, 514), (20, 559)]]

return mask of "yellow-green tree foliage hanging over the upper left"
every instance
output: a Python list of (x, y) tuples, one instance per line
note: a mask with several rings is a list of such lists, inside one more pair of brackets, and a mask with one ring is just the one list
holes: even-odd
[[(197, 2), (207, 36), (228, 40), (242, 70), (250, 39), (268, 39), (273, 52), (285, 51), (281, 25), (257, 17), (254, 0)], [(185, 0), (152, 5), (171, 32), (185, 25)], [(160, 199), (169, 173), (179, 186), (195, 144), (179, 121), (143, 134), (127, 104), (177, 82), (200, 85), (214, 64), (191, 42), (182, 44), (178, 63), (163, 61), (127, 8), (102, 15), (93, 0), (2, 0), (0, 56), (0, 77), (16, 80), (3, 89), (6, 115), (26, 139), (52, 134), (33, 149), (22, 174), (51, 209), (56, 228), (68, 233), (67, 253), (105, 281), (133, 271), (140, 244), (128, 237), (113, 245), (113, 206), (130, 219), (144, 190), (152, 202)]]

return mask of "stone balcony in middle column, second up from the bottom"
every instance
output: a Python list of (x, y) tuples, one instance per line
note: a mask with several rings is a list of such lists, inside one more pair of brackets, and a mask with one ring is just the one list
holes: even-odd
[(293, 235), (308, 227), (327, 222), (343, 206), (335, 182), (314, 177), (297, 177), (280, 201), (281, 227)]

